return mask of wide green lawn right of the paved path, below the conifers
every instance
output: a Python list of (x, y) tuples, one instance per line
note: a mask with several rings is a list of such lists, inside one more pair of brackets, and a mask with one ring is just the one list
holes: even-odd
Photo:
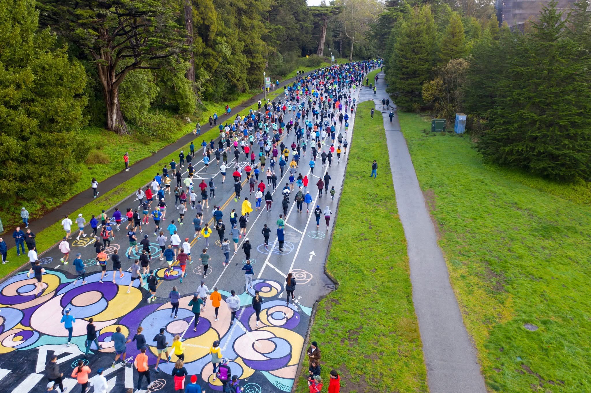
[(469, 136), (399, 117), (488, 388), (590, 392), (589, 184), (487, 165)]

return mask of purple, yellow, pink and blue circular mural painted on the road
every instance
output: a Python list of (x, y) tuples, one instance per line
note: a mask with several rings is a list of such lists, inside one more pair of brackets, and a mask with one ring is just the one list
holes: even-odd
[[(112, 274), (109, 272), (109, 274)], [(172, 277), (176, 277), (171, 276)], [(14, 351), (27, 351), (43, 345), (61, 345), (67, 342), (67, 330), (60, 319), (67, 308), (76, 317), (72, 344), (85, 350), (87, 320), (92, 317), (99, 334), (102, 349), (99, 353), (114, 351), (111, 335), (120, 326), (122, 333), (132, 338), (138, 326), (148, 341), (150, 364), (156, 361), (156, 348), (152, 338), (161, 327), (165, 328), (168, 342), (181, 335), (185, 348), (185, 367), (189, 374), (200, 376), (209, 388), (221, 391), (222, 385), (213, 377), (209, 348), (220, 341), (222, 355), (229, 359), (232, 374), (246, 382), (245, 392), (260, 393), (261, 381), (271, 384), (277, 391), (291, 391), (296, 369), (303, 349), (303, 335), (309, 322), (311, 309), (299, 304), (286, 304), (277, 299), (283, 286), (274, 280), (254, 280), (253, 288), (239, 295), (241, 309), (236, 314), (240, 323), (230, 325), (230, 310), (224, 300), (215, 320), (209, 301), (199, 317), (197, 331), (193, 331), (193, 313), (189, 306), (192, 295), (180, 299), (178, 318), (170, 317), (170, 303), (148, 304), (134, 281), (131, 293), (126, 293), (131, 273), (124, 273), (117, 284), (99, 283), (100, 273), (87, 276), (87, 283), (76, 286), (59, 271), (47, 270), (43, 276), (44, 290), (35, 298), (35, 280), (19, 273), (0, 284), (0, 356)], [(259, 326), (252, 309), (252, 296), (258, 290), (264, 298)], [(225, 299), (229, 293), (220, 292)], [(159, 294), (167, 296), (168, 293)], [(93, 352), (98, 348), (93, 344)], [(128, 344), (127, 356), (139, 351), (135, 343)], [(170, 376), (176, 356), (170, 363), (160, 363), (160, 375)], [(265, 389), (265, 391), (271, 391)]]

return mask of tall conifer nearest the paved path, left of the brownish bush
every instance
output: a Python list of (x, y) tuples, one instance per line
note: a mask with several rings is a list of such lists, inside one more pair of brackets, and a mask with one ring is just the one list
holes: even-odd
[[(434, 22), (430, 9), (414, 8), (398, 34), (389, 61), (388, 92), (404, 110), (417, 110), (423, 104), (421, 91), (433, 68)], [(433, 32), (433, 33), (431, 33)]]

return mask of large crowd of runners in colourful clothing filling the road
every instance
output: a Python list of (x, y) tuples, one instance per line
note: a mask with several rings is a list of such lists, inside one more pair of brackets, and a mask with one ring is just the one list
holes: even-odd
[[(298, 214), (304, 214), (305, 205), (306, 214), (313, 214), (316, 219), (316, 228), (322, 224), (326, 225), (326, 230), (329, 229), (333, 211), (327, 204), (323, 204), (325, 207), (321, 204), (314, 205), (313, 201), (316, 198), (311, 194), (314, 193), (314, 185), (316, 185), (318, 198), (333, 199), (335, 197), (337, 190), (335, 185), (330, 183), (330, 168), (338, 164), (347, 153), (350, 144), (349, 120), (355, 110), (356, 93), (362, 86), (363, 78), (372, 68), (379, 66), (379, 61), (334, 64), (307, 75), (298, 75), (293, 84), (285, 86), (283, 99), (266, 102), (259, 100), (257, 107), (249, 110), (248, 115), (244, 117), (237, 115), (233, 121), (217, 125), (217, 114), (214, 114), (209, 120), (210, 125), (217, 126), (219, 130), (217, 141), (196, 140), (191, 143), (188, 152), (183, 150), (179, 153), (178, 161), (173, 159), (171, 162), (164, 163), (161, 172), (154, 176), (148, 186), (137, 189), (136, 204), (116, 208), (112, 214), (107, 214), (103, 210), (90, 218), (79, 214), (74, 221), (66, 215), (61, 221), (65, 234), (58, 245), (63, 254), (61, 263), (66, 265), (70, 262), (69, 241), (72, 237), (77, 240), (87, 236), (95, 238), (96, 261), (102, 269), (100, 282), (111, 280), (116, 283), (118, 278), (124, 277), (123, 266), (127, 265), (126, 270), (131, 272), (127, 292), (129, 293), (136, 280), (139, 281), (140, 289), (144, 283), (147, 283), (149, 292), (147, 302), (150, 303), (157, 300), (159, 280), (154, 274), (154, 268), (165, 268), (164, 274), (167, 276), (173, 271), (173, 266), (180, 266), (181, 284), (188, 274), (187, 264), (193, 264), (197, 260), (203, 266), (203, 274), (200, 285), (189, 303), (195, 316), (193, 329), (197, 330), (199, 315), (205, 309), (207, 300), (215, 309), (217, 321), (217, 311), (222, 297), (217, 287), (210, 289), (205, 283), (209, 264), (219, 255), (222, 266), (227, 266), (231, 253), (242, 252), (246, 261), (242, 267), (245, 285), (247, 289), (252, 287), (254, 276), (251, 264), (252, 245), (248, 238), (244, 238), (242, 244), (240, 241), (246, 235), (246, 228), (252, 214), (267, 215), (268, 222), (256, 230), (261, 231), (267, 250), (270, 247), (269, 238), (272, 232), (275, 232), (279, 253), (284, 252), (285, 220), (288, 206), (292, 203), (296, 204)], [(197, 128), (200, 133), (200, 125), (197, 125)], [(127, 153), (124, 156), (124, 163), (127, 170), (129, 168)], [(209, 179), (198, 179), (195, 176), (197, 165), (203, 166), (199, 171), (201, 175), (203, 172), (211, 171), (212, 175)], [(213, 167), (213, 170), (210, 167)], [(320, 176), (314, 175), (317, 181), (313, 181), (312, 175), (314, 168), (317, 167), (323, 170), (317, 171)], [(374, 176), (376, 168), (374, 162), (372, 168)], [(285, 183), (281, 181), (284, 174), (288, 174)], [(217, 180), (217, 175), (220, 175), (220, 180)], [(218, 182), (225, 184), (226, 181), (233, 183), (233, 200), (239, 204), (238, 209), (232, 208), (230, 212), (224, 212), (221, 205), (216, 202)], [(95, 179), (92, 187), (93, 196), (98, 195), (98, 182)], [(280, 201), (275, 201), (272, 195), (272, 191), (277, 188), (280, 188)], [(273, 208), (274, 202), (275, 204), (278, 202), (280, 207)], [(170, 216), (171, 210), (178, 212), (177, 220), (167, 218), (167, 212)], [(24, 224), (27, 225), (25, 215), (28, 218), (28, 213), (22, 214)], [(323, 222), (321, 222), (322, 218), (324, 218)], [(183, 228), (181, 225), (191, 223), (194, 231), (181, 235), (181, 232), (187, 232), (181, 231)], [(76, 224), (75, 227), (74, 224)], [(88, 227), (87, 224), (89, 224)], [(35, 296), (38, 296), (43, 292), (45, 270), (38, 261), (34, 234), (31, 236), (28, 235), (29, 233), (32, 232), (28, 229), (25, 233), (21, 228), (17, 228), (13, 237), (17, 247), (21, 245), (23, 254), (24, 245), (21, 243), (26, 242), (28, 245), (28, 257), (31, 263), (28, 275), (33, 275), (37, 280)], [(213, 238), (212, 235), (214, 235)], [(118, 237), (126, 237), (129, 246), (125, 251), (122, 248), (121, 254), (114, 250), (109, 258), (105, 249), (111, 245), (113, 239)], [(214, 238), (216, 240), (219, 238), (219, 251), (215, 251), (217, 255), (210, 251), (210, 239)], [(157, 243), (160, 247), (161, 253), (157, 261), (152, 258), (154, 248), (151, 248), (151, 243)], [(2, 244), (1, 238), (0, 244)], [(4, 263), (6, 262), (5, 254), (2, 256)], [(124, 263), (125, 260), (129, 260), (129, 263)], [(79, 253), (72, 258), (72, 264), (77, 274), (73, 284), (76, 285), (78, 280), (81, 284), (85, 284), (86, 268)], [(287, 303), (290, 303), (290, 296), (292, 301), (295, 299), (296, 284), (292, 273), (288, 273), (285, 279)], [(256, 326), (258, 326), (262, 299), (258, 296), (258, 292), (254, 294), (252, 307), (256, 312)], [(177, 287), (173, 287), (167, 296), (160, 294), (160, 297), (170, 301), (170, 317), (176, 319), (181, 297)], [(231, 312), (230, 323), (234, 323), (241, 301), (233, 290), (231, 296), (226, 299), (226, 304)], [(72, 324), (75, 321), (75, 317), (70, 315), (70, 309), (64, 310), (61, 322), (69, 332), (68, 346), (72, 340)], [(158, 365), (161, 361), (174, 361), (176, 363), (172, 375), (175, 389), (187, 393), (201, 391), (195, 375), (191, 376), (191, 383), (185, 385), (187, 371), (183, 366), (184, 348), (180, 336), (168, 342), (162, 328), (159, 335), (146, 338), (142, 335), (142, 327), (139, 327), (135, 336), (129, 339), (121, 333), (120, 327), (117, 329), (112, 335), (115, 356), (111, 366), (115, 367), (119, 361), (125, 365), (126, 345), (134, 342), (132, 345), (136, 345), (141, 351), (133, 362), (138, 372), (138, 389), (141, 389), (144, 377), (148, 388), (151, 387), (153, 382), (151, 382), (150, 372), (160, 372)], [(85, 358), (91, 352), (93, 343), (100, 349), (92, 318), (87, 321), (86, 332)], [(155, 346), (158, 353), (157, 362), (152, 370), (148, 368), (146, 354), (148, 345)], [(222, 382), (223, 391), (233, 393), (241, 391), (240, 381), (236, 375), (231, 375), (227, 365), (228, 359), (223, 358), (219, 342), (204, 343), (204, 345), (210, 345), (214, 379), (218, 378)], [(320, 392), (324, 382), (320, 377), (320, 350), (316, 342), (313, 342), (307, 354), (310, 357), (308, 380), (310, 392)], [(64, 387), (61, 382), (63, 374), (59, 372), (59, 366), (55, 360), (51, 359), (46, 368), (47, 377), (50, 380), (48, 390), (55, 389), (63, 392)], [(83, 362), (72, 372), (72, 377), (77, 378), (82, 385), (82, 392), (89, 388), (90, 373), (90, 368)], [(95, 391), (102, 392), (101, 386), (106, 389), (106, 379), (100, 374), (102, 369), (98, 370), (99, 378), (96, 380), (99, 382), (95, 382), (94, 386)], [(331, 371), (328, 391), (339, 392), (339, 383), (339, 375), (336, 371)]]

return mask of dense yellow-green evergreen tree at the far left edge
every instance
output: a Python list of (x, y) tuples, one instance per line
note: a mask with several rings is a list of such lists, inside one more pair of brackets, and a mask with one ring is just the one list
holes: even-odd
[(59, 196), (77, 179), (84, 67), (38, 30), (34, 0), (0, 1), (0, 203)]

